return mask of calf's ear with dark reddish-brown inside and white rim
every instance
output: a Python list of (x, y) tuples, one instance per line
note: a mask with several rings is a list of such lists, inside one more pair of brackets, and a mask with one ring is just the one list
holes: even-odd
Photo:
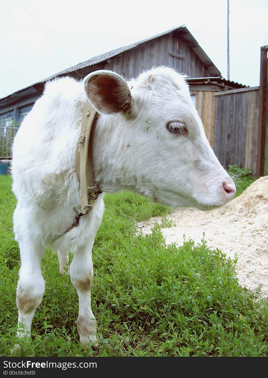
[(114, 114), (130, 110), (132, 98), (128, 84), (117, 73), (94, 71), (84, 78), (83, 85), (87, 98), (99, 113)]

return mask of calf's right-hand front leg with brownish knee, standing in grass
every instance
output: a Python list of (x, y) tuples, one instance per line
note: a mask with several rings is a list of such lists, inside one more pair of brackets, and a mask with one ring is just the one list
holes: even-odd
[(93, 264), (91, 257), (92, 245), (81, 247), (76, 251), (70, 265), (70, 277), (79, 297), (79, 313), (77, 329), (81, 344), (93, 343), (93, 349), (97, 350), (96, 344), (96, 321), (91, 310), (90, 289), (93, 279)]

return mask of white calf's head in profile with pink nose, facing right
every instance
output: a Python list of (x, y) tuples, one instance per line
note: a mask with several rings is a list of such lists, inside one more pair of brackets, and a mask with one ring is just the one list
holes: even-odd
[(111, 141), (103, 152), (110, 156), (110, 181), (172, 207), (208, 210), (234, 196), (235, 185), (207, 141), (183, 75), (158, 67), (126, 82), (100, 70), (83, 84), (103, 115), (97, 135), (108, 133)]

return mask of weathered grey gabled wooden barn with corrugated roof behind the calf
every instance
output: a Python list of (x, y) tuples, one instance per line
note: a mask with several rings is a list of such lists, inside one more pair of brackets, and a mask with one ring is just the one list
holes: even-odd
[(0, 125), (19, 124), (41, 96), (45, 82), (54, 77), (82, 79), (92, 71), (107, 69), (136, 77), (153, 66), (168, 65), (189, 77), (220, 77), (221, 73), (184, 26), (146, 40), (90, 58), (86, 62), (16, 91), (0, 99)]

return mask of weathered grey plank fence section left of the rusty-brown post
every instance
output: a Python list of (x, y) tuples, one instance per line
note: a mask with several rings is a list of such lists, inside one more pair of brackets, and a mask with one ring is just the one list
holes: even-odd
[(237, 164), (256, 174), (259, 87), (215, 92), (213, 150), (227, 168)]

